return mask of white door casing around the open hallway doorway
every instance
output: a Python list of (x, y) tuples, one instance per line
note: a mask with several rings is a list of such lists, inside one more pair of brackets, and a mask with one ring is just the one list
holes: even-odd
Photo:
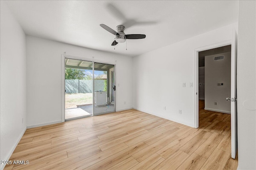
[(223, 47), (226, 45), (231, 45), (232, 40), (222, 41), (219, 43), (206, 45), (194, 49), (194, 127), (199, 127), (199, 95), (198, 95), (198, 52), (205, 51), (209, 49), (215, 49), (218, 47)]

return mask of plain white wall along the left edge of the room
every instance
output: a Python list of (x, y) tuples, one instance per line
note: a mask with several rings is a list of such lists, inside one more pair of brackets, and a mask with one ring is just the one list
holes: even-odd
[(8, 160), (26, 130), (26, 37), (0, 3), (0, 160)]

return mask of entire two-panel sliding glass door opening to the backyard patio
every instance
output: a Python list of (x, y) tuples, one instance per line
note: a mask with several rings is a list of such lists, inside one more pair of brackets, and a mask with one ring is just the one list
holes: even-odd
[(116, 110), (114, 64), (65, 57), (64, 66), (65, 121)]

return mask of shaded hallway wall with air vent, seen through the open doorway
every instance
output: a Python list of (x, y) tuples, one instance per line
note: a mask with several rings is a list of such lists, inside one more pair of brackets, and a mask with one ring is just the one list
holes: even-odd
[[(222, 60), (214, 57), (224, 55)], [(230, 113), (231, 52), (205, 56), (205, 110)], [(223, 83), (223, 86), (218, 86)], [(217, 102), (217, 105), (214, 104)]]

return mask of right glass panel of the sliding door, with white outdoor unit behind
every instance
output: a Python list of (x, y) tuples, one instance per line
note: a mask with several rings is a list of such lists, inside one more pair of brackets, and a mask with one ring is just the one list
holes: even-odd
[(94, 114), (115, 111), (114, 65), (94, 63)]

